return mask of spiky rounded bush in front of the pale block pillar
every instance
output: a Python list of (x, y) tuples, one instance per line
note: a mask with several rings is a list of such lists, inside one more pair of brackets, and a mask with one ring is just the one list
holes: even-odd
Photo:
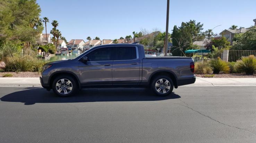
[(210, 61), (210, 65), (213, 69), (213, 73), (214, 74), (219, 74), (220, 71), (222, 71), (223, 73), (227, 74), (230, 72), (230, 68), (227, 62), (221, 60), (220, 57), (216, 58), (216, 59), (212, 59)]

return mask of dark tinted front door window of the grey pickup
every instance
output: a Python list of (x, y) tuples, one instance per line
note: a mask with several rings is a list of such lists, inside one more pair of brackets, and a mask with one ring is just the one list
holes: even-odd
[(89, 61), (107, 61), (113, 60), (112, 58), (112, 48), (111, 47), (104, 47), (93, 50), (92, 52), (88, 53), (86, 57)]

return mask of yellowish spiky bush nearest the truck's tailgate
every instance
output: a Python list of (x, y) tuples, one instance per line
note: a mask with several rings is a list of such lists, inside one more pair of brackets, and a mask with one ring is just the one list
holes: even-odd
[(195, 63), (195, 74), (210, 74), (212, 68), (207, 61), (198, 61)]

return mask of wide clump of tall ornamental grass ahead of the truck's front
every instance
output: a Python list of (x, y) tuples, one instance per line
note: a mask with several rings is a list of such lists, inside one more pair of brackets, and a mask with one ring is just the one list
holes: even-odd
[(7, 57), (5, 61), (6, 71), (39, 71), (41, 72), (45, 61), (34, 56)]

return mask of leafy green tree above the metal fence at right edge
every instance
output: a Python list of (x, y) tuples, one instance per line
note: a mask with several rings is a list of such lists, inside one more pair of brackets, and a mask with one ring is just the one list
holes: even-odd
[(232, 43), (233, 50), (256, 50), (256, 27), (250, 28), (243, 34), (235, 35)]

